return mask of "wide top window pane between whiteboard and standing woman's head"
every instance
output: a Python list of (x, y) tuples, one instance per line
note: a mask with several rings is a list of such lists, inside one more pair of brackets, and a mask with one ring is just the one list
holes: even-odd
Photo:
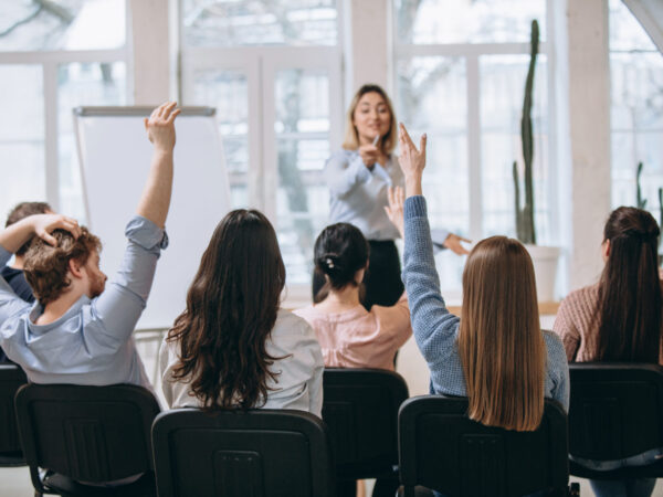
[(336, 0), (182, 0), (189, 46), (336, 45)]

